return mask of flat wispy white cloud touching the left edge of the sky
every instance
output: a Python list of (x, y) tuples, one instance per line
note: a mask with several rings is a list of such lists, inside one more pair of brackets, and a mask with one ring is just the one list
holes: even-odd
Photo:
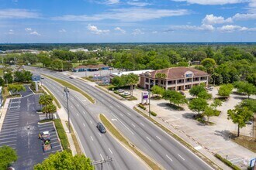
[(36, 12), (29, 12), (26, 9), (6, 8), (1, 9), (0, 19), (36, 19), (39, 15)]

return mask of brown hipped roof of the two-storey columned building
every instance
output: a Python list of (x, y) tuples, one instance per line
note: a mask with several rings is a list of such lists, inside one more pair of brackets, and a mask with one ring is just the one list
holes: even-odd
[[(187, 71), (191, 71), (192, 73), (194, 73), (194, 76), (208, 76), (209, 74), (201, 71), (201, 70), (196, 70), (194, 68), (191, 67), (185, 67), (185, 66), (178, 66), (178, 67), (171, 67), (168, 69), (163, 69), (163, 70), (155, 70), (152, 72), (147, 72), (150, 74), (151, 78), (155, 78), (157, 73), (164, 73), (167, 77), (168, 80), (173, 80), (173, 79), (180, 79), (180, 78), (185, 78), (185, 73)], [(146, 74), (147, 74), (146, 73)], [(145, 75), (141, 74), (141, 75)]]

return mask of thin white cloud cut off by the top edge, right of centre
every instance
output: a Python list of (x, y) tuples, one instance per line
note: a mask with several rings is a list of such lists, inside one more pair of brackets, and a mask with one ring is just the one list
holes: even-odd
[(250, 2), (250, 0), (173, 0), (175, 2), (188, 2), (189, 4), (199, 5), (225, 5)]

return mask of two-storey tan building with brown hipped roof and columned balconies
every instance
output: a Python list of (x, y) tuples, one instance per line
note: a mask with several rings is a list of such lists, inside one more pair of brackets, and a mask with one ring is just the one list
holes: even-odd
[[(166, 78), (157, 78), (157, 73)], [(158, 74), (159, 75), (159, 74)], [(208, 86), (209, 74), (190, 67), (178, 66), (140, 74), (140, 87), (150, 89), (154, 85), (165, 90), (189, 90), (193, 86), (205, 83)]]

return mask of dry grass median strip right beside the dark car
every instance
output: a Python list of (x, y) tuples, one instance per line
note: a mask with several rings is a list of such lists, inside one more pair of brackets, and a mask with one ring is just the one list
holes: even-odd
[(123, 135), (119, 133), (119, 131), (117, 131), (117, 129), (108, 121), (108, 119), (103, 114), (100, 114), (99, 118), (111, 134), (113, 134), (119, 141), (126, 145), (126, 147), (130, 148), (138, 157), (140, 157), (147, 165), (149, 165), (150, 168), (154, 170), (161, 169), (147, 155), (144, 155), (141, 151), (131, 145), (130, 142), (127, 141), (126, 138), (124, 138)]

